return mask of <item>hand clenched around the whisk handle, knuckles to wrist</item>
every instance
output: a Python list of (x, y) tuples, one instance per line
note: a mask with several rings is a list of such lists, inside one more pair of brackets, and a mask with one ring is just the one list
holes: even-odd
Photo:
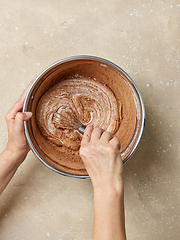
[(123, 164), (120, 141), (108, 131), (92, 125), (86, 127), (80, 156), (91, 178), (94, 189), (122, 189)]

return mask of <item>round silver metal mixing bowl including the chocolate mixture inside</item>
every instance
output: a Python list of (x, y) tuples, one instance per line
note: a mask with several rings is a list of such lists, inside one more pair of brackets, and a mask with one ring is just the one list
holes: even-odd
[[(32, 151), (57, 173), (89, 177), (77, 149), (81, 136), (61, 129), (53, 122), (53, 111), (62, 108), (73, 109), (83, 123), (100, 126), (117, 136), (123, 163), (132, 156), (141, 140), (145, 124), (144, 104), (127, 73), (98, 57), (63, 59), (36, 78), (23, 106), (24, 112), (33, 113), (24, 123)], [(42, 122), (47, 125), (44, 127)]]

